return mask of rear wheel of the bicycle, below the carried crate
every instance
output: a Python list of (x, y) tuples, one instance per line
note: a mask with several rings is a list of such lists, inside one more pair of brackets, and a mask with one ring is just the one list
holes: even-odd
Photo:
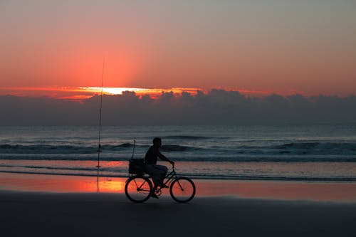
[(132, 176), (126, 181), (125, 194), (133, 202), (144, 202), (150, 199), (152, 183), (143, 176)]

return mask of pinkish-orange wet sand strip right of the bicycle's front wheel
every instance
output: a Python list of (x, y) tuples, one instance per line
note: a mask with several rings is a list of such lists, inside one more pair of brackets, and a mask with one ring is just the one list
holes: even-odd
[(356, 183), (203, 180), (197, 182), (197, 194), (248, 199), (356, 202)]

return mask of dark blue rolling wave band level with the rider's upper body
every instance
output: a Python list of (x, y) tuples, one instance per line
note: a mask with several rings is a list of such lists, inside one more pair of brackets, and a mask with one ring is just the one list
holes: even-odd
[[(132, 155), (134, 144), (103, 144), (102, 159), (122, 160)], [(135, 152), (144, 156), (148, 145), (137, 144)], [(269, 145), (225, 146), (164, 144), (161, 151), (178, 160), (236, 162), (355, 162), (355, 142), (285, 142)], [(1, 144), (0, 159), (93, 160), (98, 145)]]

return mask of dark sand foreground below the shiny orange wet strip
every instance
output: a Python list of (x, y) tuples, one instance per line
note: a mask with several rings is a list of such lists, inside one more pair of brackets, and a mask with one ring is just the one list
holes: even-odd
[(335, 202), (0, 192), (1, 236), (355, 236), (356, 205)]

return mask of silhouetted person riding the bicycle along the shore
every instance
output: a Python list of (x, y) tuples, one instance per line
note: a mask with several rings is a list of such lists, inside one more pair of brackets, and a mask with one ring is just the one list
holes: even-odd
[(165, 157), (161, 152), (159, 152), (159, 147), (162, 146), (162, 139), (160, 139), (159, 137), (155, 137), (152, 142), (153, 145), (147, 150), (145, 155), (145, 169), (147, 174), (150, 174), (153, 183), (155, 184), (153, 186), (153, 191), (151, 193), (151, 196), (158, 199), (157, 195), (155, 194), (155, 190), (157, 189), (158, 186), (160, 186), (161, 188), (167, 188), (167, 186), (164, 185), (163, 180), (164, 177), (166, 177), (168, 168), (165, 167), (164, 165), (157, 164), (157, 158), (159, 157), (159, 159), (162, 159), (171, 164), (174, 164), (174, 162), (172, 162), (167, 157)]

